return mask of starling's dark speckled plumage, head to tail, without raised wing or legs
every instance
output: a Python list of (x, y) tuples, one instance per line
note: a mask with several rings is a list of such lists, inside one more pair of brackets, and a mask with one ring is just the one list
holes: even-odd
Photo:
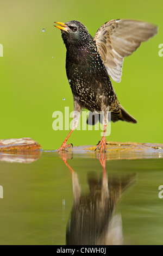
[[(112, 111), (112, 121), (124, 119), (136, 123), (130, 115), (128, 119), (122, 117), (121, 105), (98, 52), (96, 41), (87, 28), (79, 21), (68, 21), (65, 25), (70, 28), (78, 27), (79, 32), (78, 36), (74, 36), (71, 31), (61, 31), (67, 49), (66, 73), (68, 80), (71, 80), (74, 101), (91, 112)], [(76, 110), (75, 108), (74, 111)]]

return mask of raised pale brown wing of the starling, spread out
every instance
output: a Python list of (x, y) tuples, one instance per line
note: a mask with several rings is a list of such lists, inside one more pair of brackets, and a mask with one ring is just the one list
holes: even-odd
[(119, 83), (123, 58), (133, 53), (141, 42), (157, 33), (158, 28), (147, 22), (135, 20), (111, 20), (102, 25), (94, 40), (109, 76)]

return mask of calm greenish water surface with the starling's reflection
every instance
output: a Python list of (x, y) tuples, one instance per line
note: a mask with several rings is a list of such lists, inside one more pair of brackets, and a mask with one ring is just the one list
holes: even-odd
[(142, 157), (0, 154), (0, 244), (162, 245), (162, 153)]

